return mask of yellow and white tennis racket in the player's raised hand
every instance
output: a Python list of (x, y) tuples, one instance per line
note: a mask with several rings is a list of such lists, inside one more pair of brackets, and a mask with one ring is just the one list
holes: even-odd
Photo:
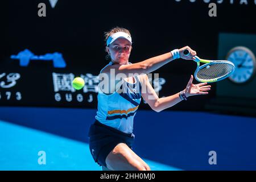
[[(183, 51), (185, 56), (189, 55), (189, 49)], [(199, 82), (216, 82), (223, 80), (233, 74), (236, 68), (231, 61), (226, 60), (205, 60), (196, 58), (197, 68), (195, 71), (195, 78)], [(205, 63), (200, 66), (200, 63)]]

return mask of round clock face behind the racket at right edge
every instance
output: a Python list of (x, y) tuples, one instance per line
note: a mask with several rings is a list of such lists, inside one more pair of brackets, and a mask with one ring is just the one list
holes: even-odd
[(256, 60), (250, 49), (235, 47), (229, 51), (226, 59), (232, 61), (236, 67), (229, 80), (241, 84), (253, 78), (256, 70)]

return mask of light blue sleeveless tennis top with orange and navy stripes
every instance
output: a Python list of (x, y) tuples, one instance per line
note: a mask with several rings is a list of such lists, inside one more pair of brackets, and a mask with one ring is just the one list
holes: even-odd
[[(113, 65), (112, 61), (108, 65)], [(98, 110), (95, 118), (99, 122), (123, 133), (133, 133), (133, 118), (141, 103), (141, 81), (138, 76), (134, 76), (134, 80), (135, 83), (131, 84), (122, 79), (119, 88), (121, 90), (118, 92), (116, 90), (111, 94), (98, 93)]]

